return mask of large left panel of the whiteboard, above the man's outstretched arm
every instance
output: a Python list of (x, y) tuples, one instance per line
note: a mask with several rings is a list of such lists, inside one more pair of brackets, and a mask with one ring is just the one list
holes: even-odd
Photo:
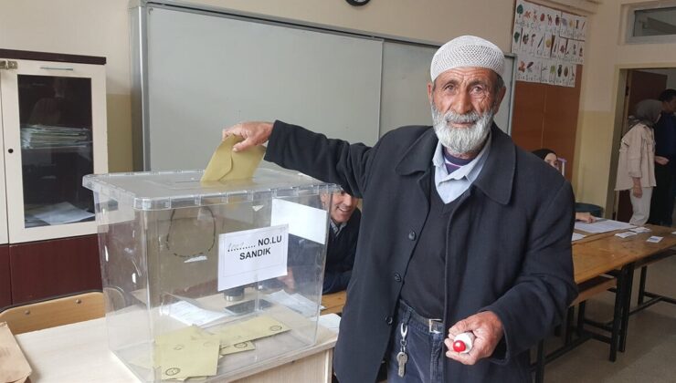
[(204, 169), (244, 120), (378, 139), (382, 40), (151, 8), (145, 170)]

